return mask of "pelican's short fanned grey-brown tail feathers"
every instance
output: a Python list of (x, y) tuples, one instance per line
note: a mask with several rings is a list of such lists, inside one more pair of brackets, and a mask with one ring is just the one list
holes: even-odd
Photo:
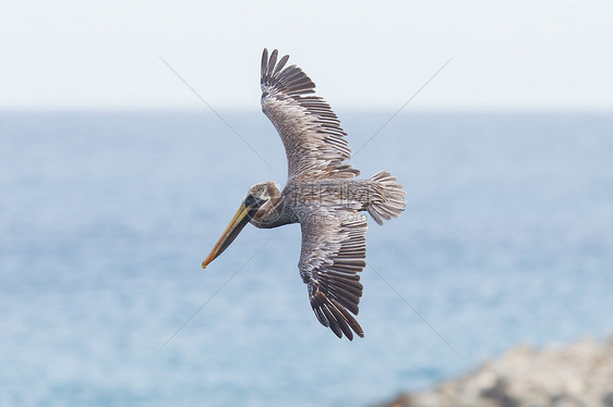
[(387, 171), (380, 171), (369, 180), (371, 182), (371, 194), (369, 195), (369, 205), (366, 210), (378, 224), (383, 224), (383, 220), (398, 218), (405, 210), (407, 201), (402, 185), (398, 184), (395, 176)]

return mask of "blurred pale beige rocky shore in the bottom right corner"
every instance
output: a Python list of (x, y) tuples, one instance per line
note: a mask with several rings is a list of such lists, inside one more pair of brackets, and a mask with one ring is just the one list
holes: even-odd
[(382, 407), (613, 407), (613, 336), (518, 346), (474, 371)]

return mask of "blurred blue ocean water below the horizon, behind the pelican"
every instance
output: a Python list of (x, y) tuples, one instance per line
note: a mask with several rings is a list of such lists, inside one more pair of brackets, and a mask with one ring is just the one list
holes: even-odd
[(354, 166), (408, 192), (369, 222), (349, 342), (298, 225), (201, 269), (248, 187), (285, 183), (261, 113), (1, 113), (0, 406), (369, 406), (613, 332), (612, 114), (390, 115), (339, 112)]

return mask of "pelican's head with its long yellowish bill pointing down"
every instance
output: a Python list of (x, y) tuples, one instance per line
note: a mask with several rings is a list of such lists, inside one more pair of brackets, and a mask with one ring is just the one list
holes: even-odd
[(237, 238), (239, 233), (242, 231), (247, 222), (252, 222), (254, 219), (257, 220), (269, 210), (269, 203), (273, 198), (278, 198), (279, 189), (276, 187), (275, 183), (265, 182), (253, 185), (249, 188), (244, 200), (239, 207), (237, 213), (219, 237), (219, 240), (211, 250), (211, 254), (203, 261), (202, 268), (206, 269), (208, 263), (215, 260), (224, 250), (230, 246), (230, 244)]

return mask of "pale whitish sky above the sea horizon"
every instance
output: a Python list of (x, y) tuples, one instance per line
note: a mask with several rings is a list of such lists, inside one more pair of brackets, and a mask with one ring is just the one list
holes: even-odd
[(611, 1), (5, 1), (0, 109), (260, 109), (262, 49), (332, 106), (613, 110)]

